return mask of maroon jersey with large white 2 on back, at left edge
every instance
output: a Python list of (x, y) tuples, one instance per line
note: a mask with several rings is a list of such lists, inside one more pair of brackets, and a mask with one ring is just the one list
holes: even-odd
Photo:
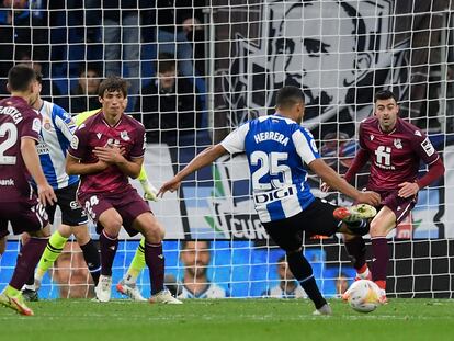
[(32, 196), (30, 173), (21, 152), (21, 139), (38, 143), (41, 115), (22, 98), (0, 101), (0, 202)]

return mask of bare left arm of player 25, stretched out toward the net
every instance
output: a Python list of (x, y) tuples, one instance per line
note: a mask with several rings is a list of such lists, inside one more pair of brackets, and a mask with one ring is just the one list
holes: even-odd
[(208, 166), (220, 156), (227, 154), (227, 150), (222, 145), (211, 146), (197, 155), (186, 167), (184, 167), (172, 180), (166, 182), (158, 192), (161, 196), (167, 192), (174, 192), (180, 187), (181, 181), (189, 174)]

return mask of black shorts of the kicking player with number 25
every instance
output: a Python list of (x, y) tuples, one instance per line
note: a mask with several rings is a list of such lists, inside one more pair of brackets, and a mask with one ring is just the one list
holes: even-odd
[(339, 230), (341, 221), (332, 215), (338, 206), (326, 201), (316, 200), (297, 215), (270, 221), (262, 223), (264, 229), (285, 251), (296, 251), (303, 246), (303, 231), (306, 237), (316, 235), (332, 236)]

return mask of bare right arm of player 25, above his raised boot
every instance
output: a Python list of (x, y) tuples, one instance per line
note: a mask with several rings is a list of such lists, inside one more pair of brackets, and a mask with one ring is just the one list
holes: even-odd
[(342, 179), (322, 159), (316, 159), (309, 163), (309, 168), (319, 175), (328, 186), (342, 192), (356, 202), (376, 206), (381, 202), (379, 194), (375, 192), (360, 192)]

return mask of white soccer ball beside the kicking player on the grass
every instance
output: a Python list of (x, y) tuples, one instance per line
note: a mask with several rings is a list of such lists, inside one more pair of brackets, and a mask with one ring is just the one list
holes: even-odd
[(349, 305), (360, 312), (374, 311), (379, 306), (379, 287), (368, 280), (354, 282), (347, 291)]

